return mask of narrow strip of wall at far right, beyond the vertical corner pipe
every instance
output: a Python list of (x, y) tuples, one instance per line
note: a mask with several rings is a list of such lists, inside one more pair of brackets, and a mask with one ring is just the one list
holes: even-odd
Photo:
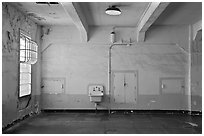
[(202, 111), (202, 28), (191, 45), (191, 109)]

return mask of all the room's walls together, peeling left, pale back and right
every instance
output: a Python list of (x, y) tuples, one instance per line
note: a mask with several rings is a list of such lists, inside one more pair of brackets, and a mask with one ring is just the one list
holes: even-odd
[[(200, 22), (199, 22), (200, 23)], [(19, 28), (39, 45), (38, 62), (32, 66), (32, 97), (18, 98)], [(197, 27), (196, 27), (197, 28)], [(136, 43), (136, 28), (116, 27), (116, 43), (135, 42), (130, 47), (114, 46), (112, 70), (138, 71), (136, 104), (110, 103), (108, 59), (112, 27), (90, 26), (89, 41), (81, 42), (78, 30), (68, 26), (41, 28), (21, 12), (2, 4), (2, 125), (41, 109), (94, 109), (89, 101), (89, 84), (105, 87), (101, 109), (192, 109), (201, 111), (201, 42), (189, 48), (188, 26), (152, 26), (144, 43)], [(42, 37), (41, 37), (42, 35)], [(193, 34), (194, 35), (194, 34)], [(42, 38), (42, 41), (41, 41)], [(42, 44), (42, 46), (40, 46)], [(198, 47), (198, 48), (197, 48)], [(188, 52), (191, 51), (191, 75)], [(42, 69), (42, 71), (41, 71)], [(191, 77), (191, 88), (189, 88)], [(41, 94), (41, 79), (65, 79), (62, 94)], [(183, 94), (161, 94), (161, 78), (184, 78)], [(192, 90), (192, 92), (189, 92)], [(113, 90), (111, 90), (113, 91)], [(112, 92), (110, 92), (112, 93)], [(191, 96), (192, 95), (192, 96)], [(42, 105), (41, 105), (42, 101)]]

